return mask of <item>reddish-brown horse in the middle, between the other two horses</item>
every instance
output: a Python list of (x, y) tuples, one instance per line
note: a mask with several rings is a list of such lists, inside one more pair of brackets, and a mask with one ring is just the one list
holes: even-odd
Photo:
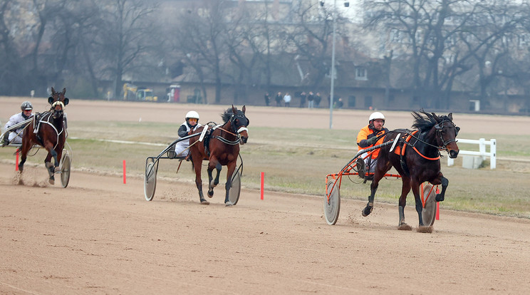
[[(202, 133), (204, 128), (208, 128), (209, 135), (204, 140), (199, 136), (189, 139), (189, 154), (191, 155), (192, 167), (195, 171), (195, 185), (199, 190), (199, 199), (202, 205), (209, 205), (202, 194), (201, 166), (202, 160), (208, 160), (208, 197), (214, 196), (214, 187), (219, 184), (219, 173), (222, 166), (227, 166), (227, 183), (224, 185), (226, 196), (224, 204), (232, 206), (229, 201), (229, 190), (232, 186), (232, 173), (236, 168), (237, 156), (239, 155), (239, 145), (244, 145), (249, 138), (248, 129), (249, 119), (245, 115), (246, 108), (243, 105), (241, 110), (228, 108), (222, 113), (223, 125), (217, 125), (210, 128), (208, 125), (201, 126), (194, 131)], [(207, 148), (205, 148), (205, 145)], [(217, 170), (215, 178), (212, 177), (213, 170)]]

